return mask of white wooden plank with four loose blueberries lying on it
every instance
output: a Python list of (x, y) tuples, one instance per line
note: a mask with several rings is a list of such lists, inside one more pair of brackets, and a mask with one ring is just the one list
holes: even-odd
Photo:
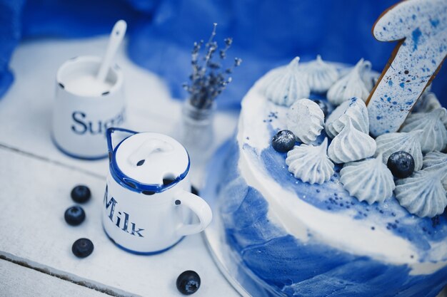
[[(122, 296), (176, 296), (176, 277), (194, 270), (202, 278), (196, 296), (237, 296), (214, 265), (200, 234), (188, 236), (174, 249), (156, 256), (135, 256), (116, 248), (101, 226), (105, 181), (96, 176), (0, 148), (0, 254), (32, 267)], [(74, 184), (87, 184), (92, 199), (83, 205), (81, 226), (64, 222), (64, 211), (74, 204)], [(94, 242), (86, 259), (71, 254), (81, 237)]]

